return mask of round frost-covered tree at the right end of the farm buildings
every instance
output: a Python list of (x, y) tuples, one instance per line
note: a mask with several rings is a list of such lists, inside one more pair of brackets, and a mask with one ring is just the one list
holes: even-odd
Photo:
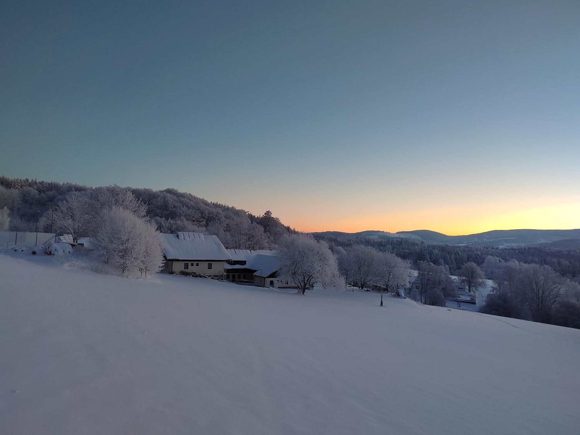
[(279, 243), (282, 280), (292, 281), (304, 294), (314, 285), (344, 287), (336, 257), (324, 241), (317, 242), (309, 234), (285, 235)]

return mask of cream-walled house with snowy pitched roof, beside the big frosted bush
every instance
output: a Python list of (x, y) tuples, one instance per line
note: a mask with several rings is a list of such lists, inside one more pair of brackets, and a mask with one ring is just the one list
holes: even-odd
[(206, 276), (223, 276), (230, 254), (216, 235), (187, 233), (161, 234), (165, 271), (186, 271)]

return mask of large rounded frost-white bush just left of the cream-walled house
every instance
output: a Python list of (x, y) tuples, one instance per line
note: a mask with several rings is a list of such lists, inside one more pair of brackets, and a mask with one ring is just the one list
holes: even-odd
[(161, 268), (162, 248), (153, 223), (120, 206), (103, 211), (101, 219), (93, 247), (107, 263), (120, 267), (122, 273), (135, 268), (147, 274)]

